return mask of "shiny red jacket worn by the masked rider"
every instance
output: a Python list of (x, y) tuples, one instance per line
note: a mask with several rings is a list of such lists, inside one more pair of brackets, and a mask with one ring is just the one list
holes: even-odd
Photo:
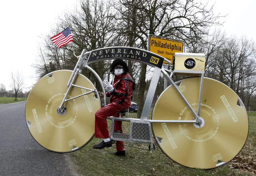
[(119, 76), (115, 75), (111, 84), (114, 90), (111, 93), (107, 92), (107, 96), (110, 97), (110, 102), (116, 101), (127, 106), (128, 109), (131, 105), (131, 96), (135, 89), (135, 82), (131, 78), (131, 75), (129, 75), (129, 73), (122, 73)]

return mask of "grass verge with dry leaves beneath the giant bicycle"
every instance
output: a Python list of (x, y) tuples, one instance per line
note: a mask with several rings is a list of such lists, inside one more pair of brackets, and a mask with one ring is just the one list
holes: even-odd
[[(136, 118), (136, 113), (129, 113), (129, 117)], [(77, 173), (82, 176), (254, 176), (256, 117), (250, 116), (249, 121), (248, 140), (240, 154), (228, 164), (216, 169), (186, 168), (173, 162), (159, 148), (150, 153), (148, 150), (125, 147), (127, 156), (113, 156), (109, 152), (115, 152), (115, 144), (103, 150), (93, 149), (93, 145), (102, 140), (97, 138), (93, 138), (87, 146), (70, 155), (75, 160)], [(109, 130), (110, 126), (109, 121)], [(123, 123), (123, 129), (129, 131), (128, 123)], [(148, 147), (146, 144), (135, 144), (135, 146), (144, 149)]]

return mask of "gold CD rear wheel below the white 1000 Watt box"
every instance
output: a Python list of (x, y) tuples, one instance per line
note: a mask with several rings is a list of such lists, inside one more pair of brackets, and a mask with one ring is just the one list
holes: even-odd
[[(191, 107), (198, 109), (201, 77), (179, 81), (177, 87)], [(161, 150), (175, 162), (190, 168), (216, 168), (232, 160), (248, 136), (248, 115), (238, 95), (223, 83), (204, 78), (200, 125), (153, 123)], [(193, 120), (183, 99), (171, 85), (160, 95), (153, 120)]]

